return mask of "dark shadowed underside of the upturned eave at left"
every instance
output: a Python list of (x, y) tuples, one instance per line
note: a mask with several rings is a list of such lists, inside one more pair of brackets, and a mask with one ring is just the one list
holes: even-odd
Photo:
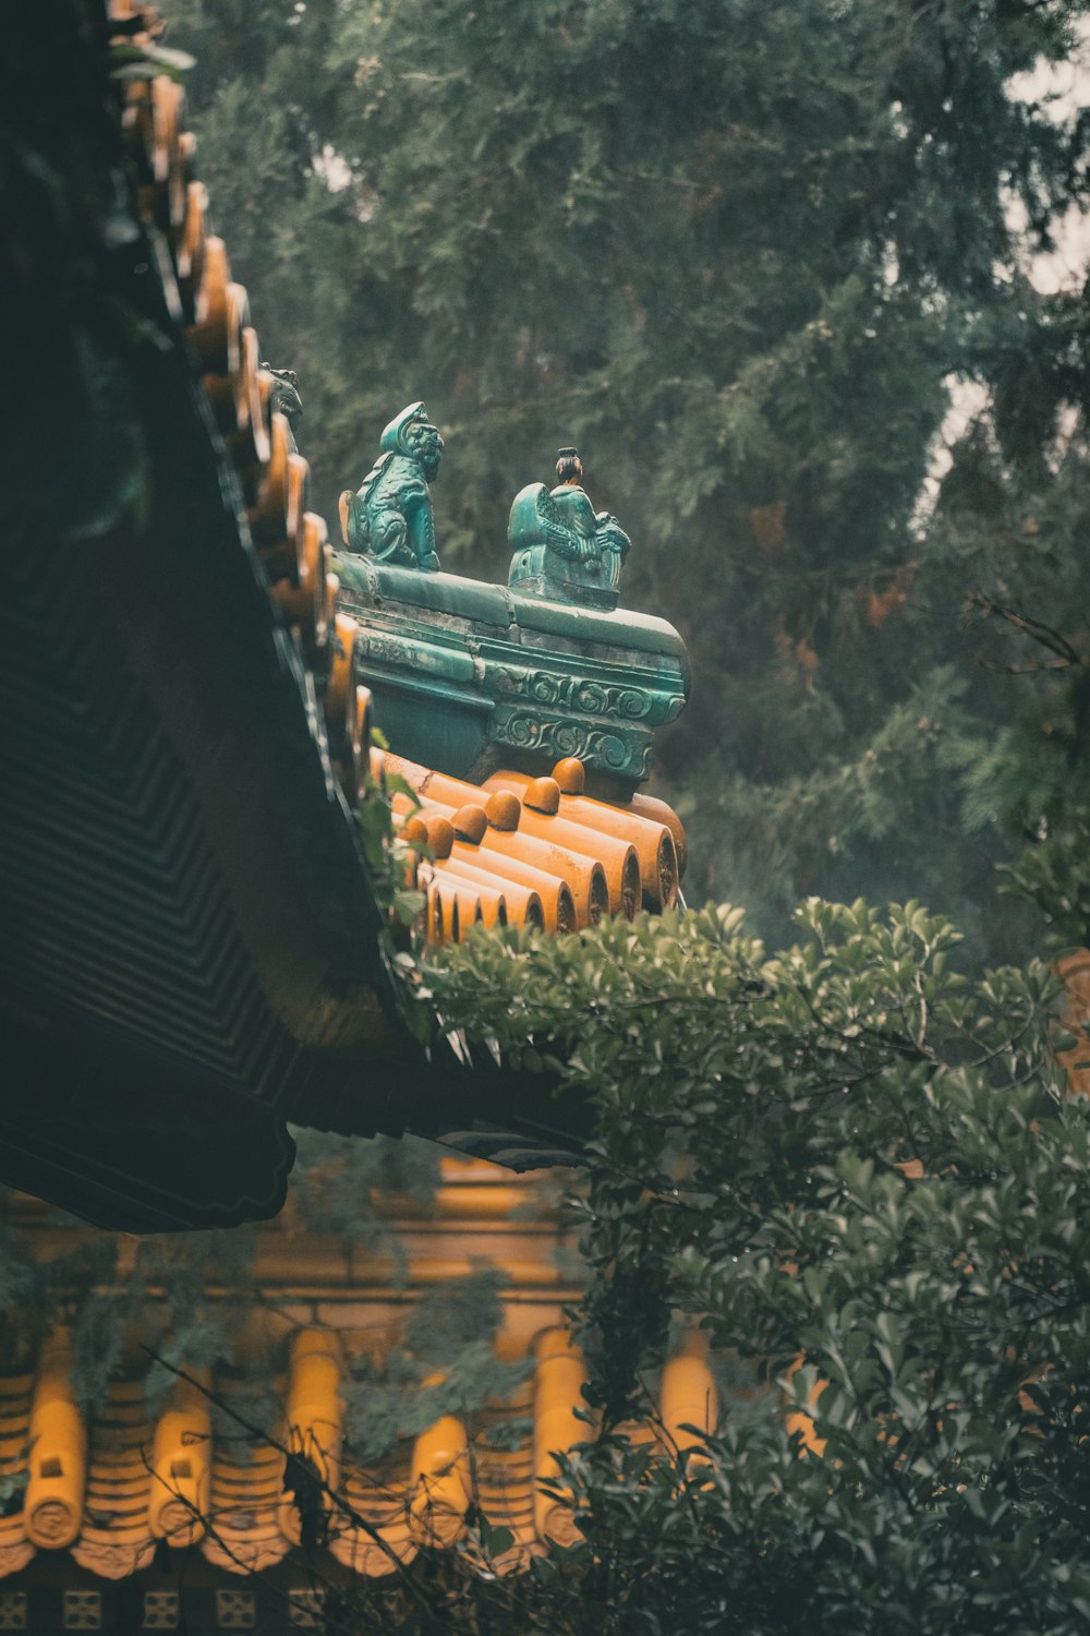
[[(405, 1026), (320, 677), (240, 522), (105, 46), (95, 0), (23, 8), (0, 69), (23, 222), (0, 250), (20, 396), (0, 494), (0, 1173), (141, 1230), (273, 1214), (288, 1119), (497, 1152), (518, 1098)], [(518, 1121), (538, 1148), (552, 1124)]]

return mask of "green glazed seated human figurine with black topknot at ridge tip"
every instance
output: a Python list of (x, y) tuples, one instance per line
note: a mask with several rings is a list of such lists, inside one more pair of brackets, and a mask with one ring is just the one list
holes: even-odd
[(559, 452), (556, 474), (552, 492), (544, 483), (528, 483), (515, 496), (507, 530), (515, 555), (507, 582), (523, 596), (614, 609), (632, 542), (616, 517), (590, 504), (577, 450)]

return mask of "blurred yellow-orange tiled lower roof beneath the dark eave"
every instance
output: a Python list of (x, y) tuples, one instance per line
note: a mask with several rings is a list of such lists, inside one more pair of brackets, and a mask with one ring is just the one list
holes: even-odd
[[(230, 1623), (222, 1610), (245, 1603), (253, 1628), (279, 1629), (299, 1623), (284, 1620), (284, 1603), (317, 1615), (327, 1593), (351, 1595), (358, 1577), (397, 1585), (422, 1553), (458, 1549), (469, 1566), (505, 1574), (549, 1539), (579, 1538), (570, 1507), (549, 1492), (562, 1481), (557, 1453), (592, 1435), (587, 1368), (565, 1319), (579, 1283), (554, 1211), (533, 1178), (458, 1158), (443, 1160), (433, 1214), (405, 1201), (384, 1211), (404, 1255), (397, 1281), (374, 1245), (301, 1232), (291, 1214), (260, 1229), (253, 1279), (263, 1301), (232, 1368), (181, 1360), (188, 1379), (149, 1400), (149, 1358), (137, 1346), (88, 1409), (72, 1337), (59, 1328), (0, 1374), (0, 1472), (16, 1495), (0, 1517), (0, 1597), (18, 1602), (25, 1628), (60, 1626), (65, 1595), (83, 1597), (96, 1628), (121, 1628), (126, 1585), (139, 1628), (172, 1628), (149, 1618), (168, 1607), (176, 1628), (185, 1618), (188, 1629), (219, 1629)], [(39, 1258), (87, 1238), (28, 1199), (13, 1201), (13, 1216)], [(502, 1281), (494, 1356), (515, 1366), (513, 1384), (472, 1412), (435, 1412), (417, 1436), (368, 1456), (346, 1400), (368, 1381), (377, 1389), (376, 1369), (420, 1296), (484, 1260)], [(123, 1247), (121, 1279), (126, 1270)], [(152, 1330), (155, 1299), (149, 1289)], [(678, 1338), (654, 1407), (631, 1432), (668, 1454), (714, 1425), (717, 1389), (699, 1333)], [(309, 1546), (291, 1454), (306, 1456), (328, 1490)], [(507, 1531), (490, 1557), (479, 1513)]]

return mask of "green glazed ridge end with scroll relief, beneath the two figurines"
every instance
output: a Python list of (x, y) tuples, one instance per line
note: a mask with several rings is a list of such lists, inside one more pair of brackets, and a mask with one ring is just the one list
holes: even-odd
[(405, 756), (474, 782), (577, 756), (588, 787), (619, 802), (647, 779), (655, 728), (688, 692), (685, 645), (665, 620), (363, 555), (333, 566), (376, 725)]

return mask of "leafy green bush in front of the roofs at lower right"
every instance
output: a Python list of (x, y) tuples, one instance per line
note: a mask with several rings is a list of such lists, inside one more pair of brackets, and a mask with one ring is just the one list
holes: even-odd
[[(1074, 1636), (1090, 1104), (1052, 1062), (1056, 983), (969, 980), (915, 903), (797, 924), (776, 955), (717, 910), (431, 964), (446, 1016), (600, 1112), (574, 1207), (605, 1435), (567, 1472), (585, 1544), (541, 1569), (554, 1628), (590, 1602), (618, 1631)], [(727, 1394), (711, 1464), (613, 1430), (675, 1314), (783, 1404)]]

